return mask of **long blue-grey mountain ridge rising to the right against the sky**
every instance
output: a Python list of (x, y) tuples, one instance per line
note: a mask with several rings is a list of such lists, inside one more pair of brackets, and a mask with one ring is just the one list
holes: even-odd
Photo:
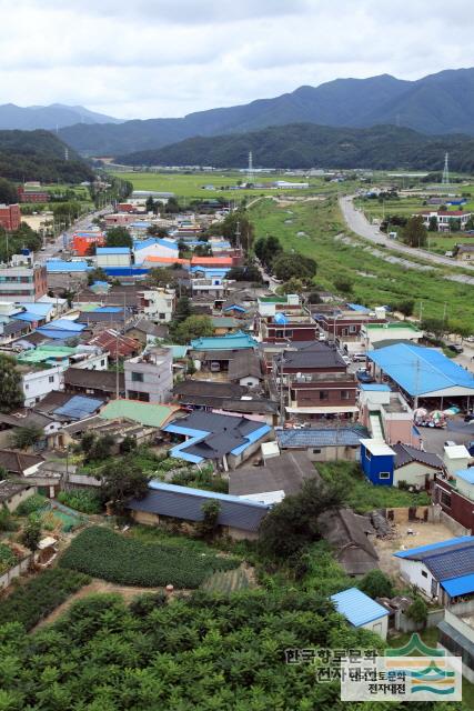
[(474, 136), (474, 69), (406, 81), (381, 74), (336, 79), (251, 103), (210, 109), (179, 119), (77, 124), (62, 139), (84, 154), (117, 156), (161, 148), (196, 136), (256, 131), (269, 126), (316, 123), (369, 128), (392, 124), (430, 134)]

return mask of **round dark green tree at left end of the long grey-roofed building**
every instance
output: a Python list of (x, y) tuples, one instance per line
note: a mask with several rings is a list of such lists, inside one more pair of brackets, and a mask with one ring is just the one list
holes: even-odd
[(148, 493), (149, 477), (130, 458), (105, 464), (100, 479), (101, 499), (110, 501), (117, 513), (124, 513), (130, 499), (143, 499)]

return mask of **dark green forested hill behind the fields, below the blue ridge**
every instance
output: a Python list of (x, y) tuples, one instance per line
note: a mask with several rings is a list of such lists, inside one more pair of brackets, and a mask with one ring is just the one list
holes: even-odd
[(260, 168), (409, 168), (440, 170), (450, 152), (452, 170), (474, 170), (474, 139), (426, 136), (394, 126), (336, 129), (313, 123), (275, 126), (251, 133), (191, 138), (158, 150), (119, 156), (125, 166), (244, 168), (249, 151)]

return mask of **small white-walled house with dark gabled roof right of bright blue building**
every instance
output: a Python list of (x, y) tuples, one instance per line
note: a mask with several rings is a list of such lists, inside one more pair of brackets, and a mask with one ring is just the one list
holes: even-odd
[(410, 444), (392, 444), (395, 452), (393, 485), (400, 487), (403, 481), (416, 489), (428, 489), (430, 482), (444, 470), (437, 454), (431, 454)]

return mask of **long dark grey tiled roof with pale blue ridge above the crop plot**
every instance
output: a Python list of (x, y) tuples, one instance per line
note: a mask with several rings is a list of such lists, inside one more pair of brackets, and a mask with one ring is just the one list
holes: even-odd
[[(202, 521), (204, 518), (202, 505), (213, 499), (212, 492), (209, 492), (209, 495), (198, 497), (185, 491), (178, 493), (175, 491), (150, 490), (144, 499), (133, 499), (128, 507), (134, 511), (158, 513), (159, 515), (168, 515), (185, 521)], [(218, 523), (244, 531), (256, 531), (261, 520), (268, 512), (268, 509), (245, 501), (223, 501), (219, 499), (219, 503), (221, 510)]]

